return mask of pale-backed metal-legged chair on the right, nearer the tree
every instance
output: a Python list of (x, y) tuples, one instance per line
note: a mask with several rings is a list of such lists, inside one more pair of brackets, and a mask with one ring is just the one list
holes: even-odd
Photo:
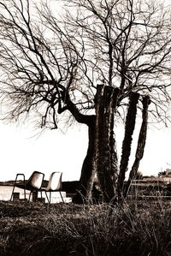
[[(64, 203), (63, 197), (62, 197), (62, 172), (52, 172), (50, 174), (50, 180), (48, 182), (48, 185), (46, 188), (40, 188), (38, 191), (41, 192), (41, 197), (42, 197), (42, 192), (45, 193), (46, 198), (48, 202), (50, 203), (51, 201), (51, 192), (59, 192), (62, 198), (62, 202)], [(50, 193), (50, 198), (48, 198), (47, 192)]]

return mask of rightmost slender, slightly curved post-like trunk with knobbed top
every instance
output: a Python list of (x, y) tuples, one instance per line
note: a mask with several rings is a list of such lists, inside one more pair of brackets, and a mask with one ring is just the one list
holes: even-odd
[(133, 179), (137, 175), (138, 169), (139, 169), (139, 162), (143, 158), (144, 155), (144, 146), (146, 141), (146, 134), (147, 134), (147, 124), (148, 124), (148, 107), (150, 104), (150, 97), (145, 96), (143, 98), (143, 113), (142, 118), (143, 122), (141, 124), (140, 132), (139, 132), (139, 140), (138, 140), (138, 146), (135, 156), (135, 161), (133, 163), (132, 170), (130, 171), (129, 178), (127, 181), (127, 185), (125, 187), (124, 191), (124, 197), (127, 197), (127, 193), (129, 192), (129, 189), (131, 187), (131, 183), (133, 182)]

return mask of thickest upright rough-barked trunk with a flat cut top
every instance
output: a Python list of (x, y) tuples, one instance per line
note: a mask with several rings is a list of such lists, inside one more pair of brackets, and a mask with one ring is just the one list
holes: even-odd
[(114, 174), (116, 153), (113, 137), (114, 111), (119, 90), (112, 86), (97, 86), (95, 172), (103, 193), (103, 201), (115, 198)]

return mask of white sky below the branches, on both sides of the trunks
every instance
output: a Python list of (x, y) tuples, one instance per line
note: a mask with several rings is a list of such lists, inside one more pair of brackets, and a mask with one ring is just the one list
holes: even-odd
[[(0, 181), (15, 179), (16, 173), (24, 173), (28, 178), (34, 170), (44, 172), (45, 179), (49, 179), (52, 171), (62, 171), (63, 181), (80, 179), (88, 142), (85, 125), (68, 128), (65, 134), (60, 130), (46, 130), (40, 134), (40, 130), (31, 126), (27, 128), (27, 125), (0, 122), (0, 131)], [(116, 140), (121, 151), (119, 128)], [(159, 171), (169, 168), (170, 145), (170, 128), (149, 128), (144, 158), (139, 166), (144, 176), (157, 175)], [(133, 162), (133, 155), (134, 152), (130, 163)]]

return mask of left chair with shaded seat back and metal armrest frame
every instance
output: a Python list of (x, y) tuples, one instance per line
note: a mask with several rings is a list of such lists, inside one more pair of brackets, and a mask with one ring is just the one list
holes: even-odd
[[(18, 176), (23, 176), (23, 181), (20, 183), (17, 180)], [(30, 178), (28, 179), (27, 182), (25, 179), (25, 175), (18, 173), (15, 177), (15, 183), (14, 183), (14, 187), (13, 187), (13, 190), (11, 193), (10, 200), (13, 199), (13, 195), (15, 193), (15, 187), (24, 189), (24, 198), (25, 199), (27, 199), (26, 190), (30, 190), (30, 194), (29, 194), (29, 200), (30, 200), (31, 193), (33, 193), (34, 191), (38, 192), (38, 189), (41, 188), (41, 186), (42, 186), (43, 180), (44, 180), (44, 173), (36, 171), (36, 170), (32, 172), (32, 176), (30, 176)]]

